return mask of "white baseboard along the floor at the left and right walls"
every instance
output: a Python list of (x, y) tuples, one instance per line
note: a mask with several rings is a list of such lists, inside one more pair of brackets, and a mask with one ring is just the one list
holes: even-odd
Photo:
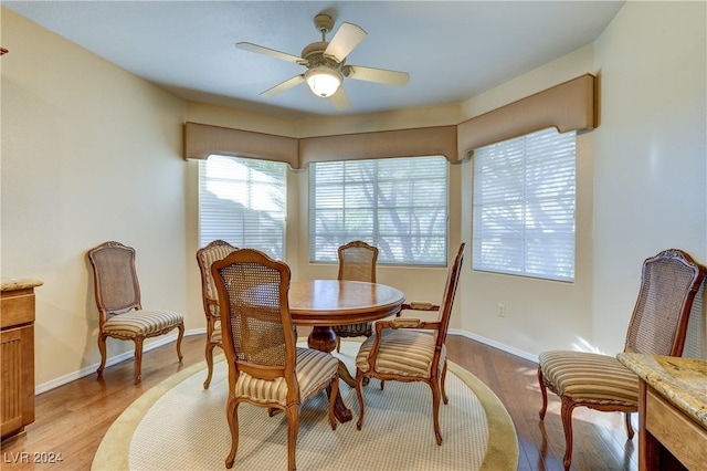
[[(202, 334), (205, 334), (205, 333), (207, 333), (205, 327), (193, 328), (193, 329), (189, 329), (189, 331), (184, 332), (184, 336), (202, 335)], [(527, 360), (538, 363), (538, 356), (537, 355), (531, 355), (531, 354), (529, 354), (527, 352), (524, 352), (521, 349), (514, 348), (514, 347), (510, 347), (508, 345), (504, 345), (504, 344), (498, 343), (496, 341), (492, 341), (490, 338), (486, 338), (486, 337), (473, 334), (473, 333), (467, 332), (467, 331), (462, 331), (460, 328), (450, 328), (449, 333), (452, 334), (452, 335), (461, 335), (463, 337), (471, 338), (472, 341), (481, 342), (482, 344), (488, 345), (488, 346), (494, 347), (494, 348), (498, 348), (499, 350), (507, 352), (507, 353), (509, 353), (511, 355), (515, 355), (517, 357), (525, 358)], [(176, 339), (177, 339), (177, 334), (161, 336), (158, 339), (156, 339), (154, 342), (150, 342), (149, 345), (146, 345), (144, 352), (149, 352), (149, 350), (155, 349), (157, 347), (161, 347), (162, 345), (169, 344), (170, 342), (173, 342)], [(116, 356), (110, 357), (110, 358), (108, 358), (106, 360), (106, 367), (116, 365), (116, 364), (118, 364), (120, 362), (124, 362), (124, 360), (133, 358), (133, 357), (135, 357), (135, 353), (134, 352), (126, 352), (126, 353), (116, 355)], [(57, 387), (60, 387), (62, 385), (65, 385), (67, 383), (76, 380), (78, 378), (83, 378), (84, 376), (95, 375), (96, 374), (96, 369), (98, 368), (98, 365), (99, 365), (98, 363), (95, 363), (93, 365), (89, 365), (89, 366), (86, 366), (84, 368), (81, 368), (77, 371), (70, 373), (68, 375), (61, 376), (61, 377), (59, 377), (56, 379), (52, 379), (51, 381), (42, 383), (41, 385), (36, 385), (35, 388), (34, 388), (34, 394), (39, 395), (39, 394), (42, 394), (42, 393), (46, 393), (50, 389), (57, 388)]]

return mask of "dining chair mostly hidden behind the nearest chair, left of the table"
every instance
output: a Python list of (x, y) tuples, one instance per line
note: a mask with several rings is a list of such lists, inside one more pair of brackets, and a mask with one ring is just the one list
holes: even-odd
[(224, 240), (214, 240), (207, 247), (197, 250), (197, 263), (201, 273), (201, 299), (203, 301), (203, 312), (207, 315), (207, 380), (203, 388), (209, 389), (211, 376), (213, 375), (213, 348), (222, 348), (221, 344), (221, 314), (219, 313), (219, 296), (217, 285), (211, 276), (211, 264), (217, 260), (225, 258), (236, 250)]

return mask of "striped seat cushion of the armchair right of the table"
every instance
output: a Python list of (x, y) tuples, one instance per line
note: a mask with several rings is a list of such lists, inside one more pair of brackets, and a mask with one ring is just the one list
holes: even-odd
[[(369, 370), (368, 355), (376, 341), (376, 335), (368, 337), (356, 356), (356, 368), (363, 373)], [(408, 376), (411, 378), (429, 378), (434, 356), (435, 337), (429, 332), (404, 328), (383, 331), (383, 338), (378, 349), (376, 370), (383, 374)], [(446, 347), (442, 347), (440, 366), (444, 365)]]

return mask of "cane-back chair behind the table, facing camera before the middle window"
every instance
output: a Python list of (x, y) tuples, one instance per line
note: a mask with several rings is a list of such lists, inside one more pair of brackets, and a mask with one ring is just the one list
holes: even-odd
[[(339, 247), (338, 255), (339, 280), (376, 283), (377, 247), (355, 240)], [(336, 350), (340, 352), (341, 337), (370, 337), (373, 334), (373, 324), (359, 322), (357, 324), (334, 325), (331, 329), (336, 334)]]

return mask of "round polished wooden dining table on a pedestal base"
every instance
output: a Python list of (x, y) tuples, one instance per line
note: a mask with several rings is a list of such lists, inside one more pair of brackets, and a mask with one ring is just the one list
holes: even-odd
[[(397, 315), (405, 295), (392, 286), (346, 280), (307, 280), (289, 283), (289, 313), (296, 325), (312, 326), (309, 348), (334, 352), (336, 334), (333, 325), (378, 321)], [(339, 362), (339, 378), (350, 387), (356, 381)], [(351, 411), (337, 398), (336, 416), (340, 422), (351, 420)]]

